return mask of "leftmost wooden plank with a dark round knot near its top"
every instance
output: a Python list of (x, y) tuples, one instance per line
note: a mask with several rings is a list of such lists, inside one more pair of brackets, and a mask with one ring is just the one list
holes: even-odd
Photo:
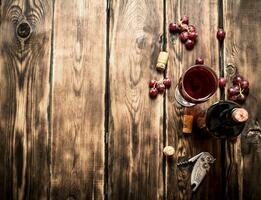
[(0, 199), (47, 199), (52, 1), (0, 6)]

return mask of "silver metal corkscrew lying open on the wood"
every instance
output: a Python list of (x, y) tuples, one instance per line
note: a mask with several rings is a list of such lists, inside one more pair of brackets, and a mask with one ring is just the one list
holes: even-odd
[(195, 162), (191, 174), (192, 191), (195, 192), (216, 159), (208, 152), (201, 152), (187, 161), (177, 163), (177, 166), (189, 165)]

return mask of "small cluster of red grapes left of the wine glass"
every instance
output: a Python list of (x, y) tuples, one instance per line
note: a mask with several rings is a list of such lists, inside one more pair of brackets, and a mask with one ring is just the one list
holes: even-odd
[(151, 80), (149, 82), (150, 97), (156, 98), (159, 93), (163, 94), (166, 89), (170, 88), (170, 86), (171, 86), (171, 80), (169, 78), (165, 78), (161, 81)]

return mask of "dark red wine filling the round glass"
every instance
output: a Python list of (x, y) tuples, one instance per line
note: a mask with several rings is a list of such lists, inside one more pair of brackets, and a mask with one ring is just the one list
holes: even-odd
[(217, 78), (204, 66), (195, 66), (183, 78), (186, 93), (194, 99), (208, 98), (217, 89)]

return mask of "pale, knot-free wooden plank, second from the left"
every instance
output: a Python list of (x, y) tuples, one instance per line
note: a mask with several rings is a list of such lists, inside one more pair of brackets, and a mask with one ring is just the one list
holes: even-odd
[(106, 8), (56, 1), (52, 199), (103, 199)]

